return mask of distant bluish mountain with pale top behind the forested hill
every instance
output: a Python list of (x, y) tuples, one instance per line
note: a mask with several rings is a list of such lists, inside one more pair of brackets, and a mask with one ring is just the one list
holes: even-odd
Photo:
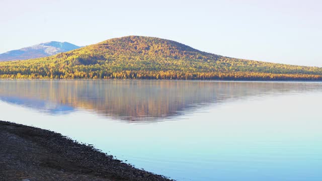
[(66, 52), (81, 48), (68, 42), (46, 42), (37, 44), (34, 46), (22, 48), (19, 50), (12, 50), (3, 54), (0, 54), (0, 61), (10, 60), (25, 60), (32, 58), (41, 58), (46, 56), (55, 55), (57, 53)]

